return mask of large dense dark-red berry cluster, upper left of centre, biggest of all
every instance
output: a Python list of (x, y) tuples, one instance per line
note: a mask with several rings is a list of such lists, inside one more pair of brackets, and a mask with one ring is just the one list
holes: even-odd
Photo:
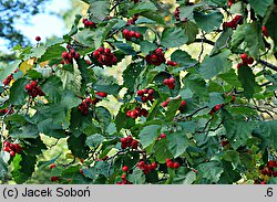
[(101, 65), (112, 66), (117, 62), (117, 59), (114, 56), (111, 50), (104, 49), (102, 46), (94, 51), (92, 56), (98, 59)]

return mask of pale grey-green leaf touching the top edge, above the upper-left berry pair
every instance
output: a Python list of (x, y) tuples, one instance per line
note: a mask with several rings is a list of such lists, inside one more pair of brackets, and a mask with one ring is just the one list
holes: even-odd
[(99, 0), (99, 1), (90, 1), (90, 8), (88, 10), (91, 13), (91, 19), (94, 22), (101, 22), (109, 15), (110, 10), (110, 1)]

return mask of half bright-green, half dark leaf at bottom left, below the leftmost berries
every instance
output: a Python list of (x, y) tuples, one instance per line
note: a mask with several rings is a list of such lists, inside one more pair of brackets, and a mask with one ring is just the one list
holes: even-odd
[(16, 183), (25, 182), (33, 173), (34, 166), (37, 163), (37, 157), (25, 153), (16, 155), (12, 160), (13, 170), (11, 171), (12, 179)]

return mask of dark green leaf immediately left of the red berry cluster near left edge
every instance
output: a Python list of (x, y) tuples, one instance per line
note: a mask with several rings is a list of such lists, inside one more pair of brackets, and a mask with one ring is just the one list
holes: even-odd
[(9, 102), (13, 105), (22, 105), (25, 102), (25, 97), (28, 96), (24, 86), (28, 84), (25, 78), (17, 79), (10, 89), (10, 99)]

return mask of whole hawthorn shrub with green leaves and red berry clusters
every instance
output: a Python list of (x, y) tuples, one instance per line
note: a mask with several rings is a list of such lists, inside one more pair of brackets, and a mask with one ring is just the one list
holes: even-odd
[(1, 70), (3, 183), (276, 183), (276, 1), (83, 1)]

